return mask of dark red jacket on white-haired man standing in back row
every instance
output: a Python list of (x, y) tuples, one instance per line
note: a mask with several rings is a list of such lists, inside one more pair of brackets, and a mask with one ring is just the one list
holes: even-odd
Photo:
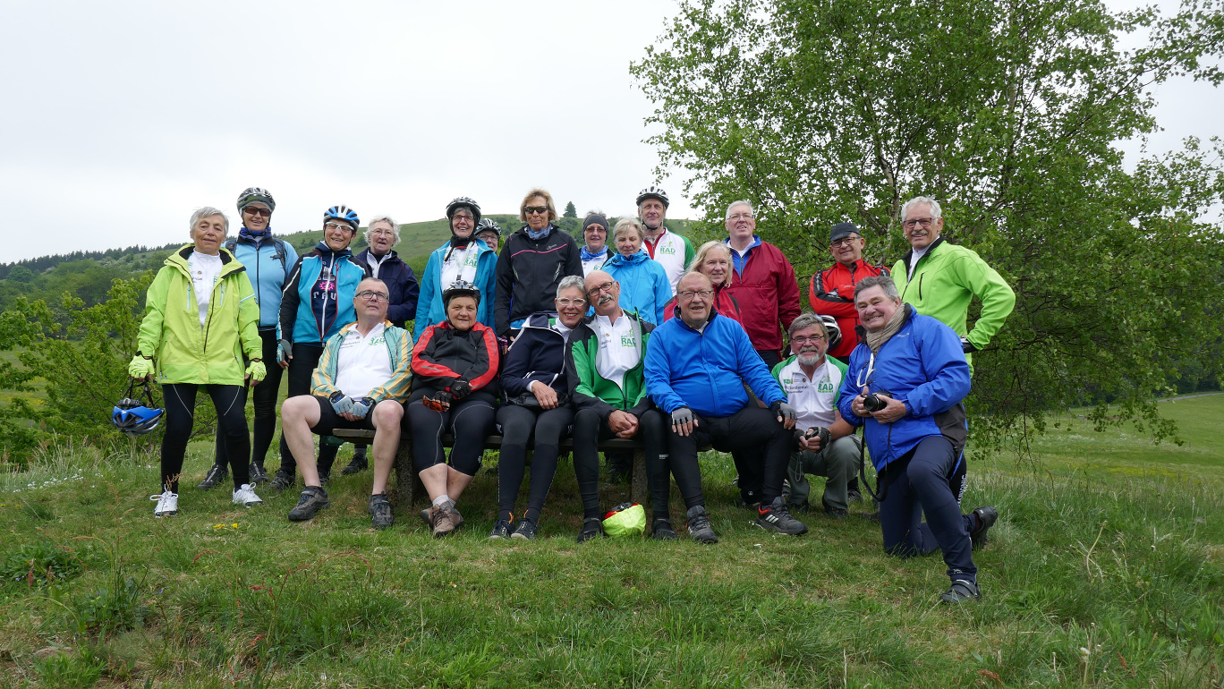
[[(732, 262), (737, 258), (732, 256)], [(739, 322), (753, 349), (781, 350), (782, 332), (800, 311), (799, 283), (786, 256), (763, 241), (748, 252), (743, 268), (736, 272), (726, 291), (739, 302)]]

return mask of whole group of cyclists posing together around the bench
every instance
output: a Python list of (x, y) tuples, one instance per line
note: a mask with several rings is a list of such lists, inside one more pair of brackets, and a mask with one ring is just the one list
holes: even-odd
[[(812, 311), (803, 312), (794, 269), (756, 234), (749, 202), (727, 208), (725, 240), (696, 250), (666, 228), (668, 204), (651, 186), (636, 198), (638, 218), (610, 228), (591, 212), (579, 245), (554, 224), (552, 196), (532, 188), (519, 207), (523, 226), (503, 245), (480, 204), (459, 197), (446, 208), (450, 237), (430, 255), (420, 283), (395, 255), (399, 226), (386, 215), (368, 223), (368, 247), (354, 255), (360, 219), (333, 206), (323, 240), (299, 257), (269, 229), (275, 202), (266, 190), (240, 195), (242, 228), (233, 240), (224, 213), (197, 210), (192, 245), (174, 252), (149, 288), (130, 365), (133, 378), (155, 377), (166, 400), (154, 515), (177, 512), (201, 385), (218, 411), (217, 459), (201, 487), (230, 475), (236, 504), (261, 502), (255, 486), (268, 480), (283, 371), (289, 397), (269, 485), (289, 488), (301, 472), (305, 490), (289, 519), (311, 519), (329, 504), (339, 443), (328, 437), (365, 428), (375, 432), (373, 525), (394, 520), (386, 488), (406, 438), (431, 501), (420, 516), (436, 536), (463, 526), (457, 503), (481, 466), (485, 438), (497, 432), (491, 538), (536, 536), (567, 434), (583, 501), (580, 542), (602, 535), (599, 443), (612, 437), (645, 447), (654, 538), (678, 537), (668, 505), (674, 479), (689, 537), (717, 542), (698, 461), (706, 447), (731, 453), (741, 501), (759, 526), (798, 536), (808, 530), (796, 518), (809, 509), (808, 475), (826, 479), (821, 508), (832, 518), (845, 518), (859, 496), (863, 427), (885, 548), (941, 551), (952, 581), (942, 598), (979, 597), (971, 549), (998, 512), (961, 513), (962, 400), (969, 352), (990, 341), (1015, 304), (1007, 283), (973, 251), (946, 242), (939, 203), (917, 197), (901, 209), (912, 248), (891, 270), (863, 259), (865, 239), (853, 224), (834, 225), (835, 262), (813, 275)], [(982, 308), (971, 330), (974, 297)], [(322, 437), (317, 458), (312, 434)], [(453, 438), (449, 456), (444, 434)], [(365, 467), (359, 448), (344, 472)]]

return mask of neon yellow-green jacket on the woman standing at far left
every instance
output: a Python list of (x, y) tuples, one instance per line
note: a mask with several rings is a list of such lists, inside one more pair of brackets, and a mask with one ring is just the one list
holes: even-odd
[(201, 327), (187, 268), (193, 250), (187, 245), (171, 253), (153, 278), (137, 345), (141, 354), (153, 356), (158, 383), (241, 385), (242, 352), (247, 359), (263, 352), (255, 289), (246, 268), (222, 248), (222, 273)]

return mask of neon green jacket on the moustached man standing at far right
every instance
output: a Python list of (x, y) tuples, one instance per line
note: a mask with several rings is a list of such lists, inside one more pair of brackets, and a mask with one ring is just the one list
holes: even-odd
[[(972, 250), (947, 244), (944, 237), (931, 242), (908, 278), (911, 256), (912, 250), (892, 267), (901, 300), (952, 328), (974, 349), (990, 344), (1016, 306), (1016, 292), (1002, 275)], [(969, 301), (974, 295), (982, 300), (982, 315), (973, 330), (968, 330)]]

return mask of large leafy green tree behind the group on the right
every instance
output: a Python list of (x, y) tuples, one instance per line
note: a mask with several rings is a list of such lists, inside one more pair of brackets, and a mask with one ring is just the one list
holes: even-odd
[(1173, 426), (1152, 400), (1177, 362), (1222, 371), (1204, 354), (1224, 242), (1202, 222), (1222, 151), (1189, 140), (1129, 173), (1115, 142), (1155, 130), (1153, 84), (1219, 84), (1222, 27), (1218, 1), (1160, 17), (1086, 0), (684, 0), (630, 69), (657, 106), (660, 173), (683, 169), (706, 210), (699, 237), (749, 198), (803, 279), (831, 262), (831, 224), (854, 222), (891, 266), (901, 204), (942, 202), (947, 239), (1017, 292), (974, 357), (978, 438), (1023, 438), (1082, 403), (1159, 438)]

